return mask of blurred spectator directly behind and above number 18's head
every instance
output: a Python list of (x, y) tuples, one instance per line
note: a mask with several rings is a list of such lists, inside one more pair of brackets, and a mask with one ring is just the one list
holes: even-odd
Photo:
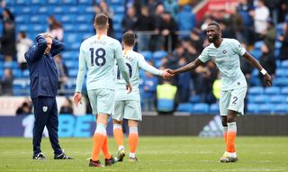
[[(114, 32), (114, 27), (113, 27), (113, 11), (112, 8), (110, 8), (106, 1), (102, 0), (98, 5), (94, 5), (94, 17), (97, 14), (106, 14), (108, 16), (108, 23), (109, 23), (109, 28), (108, 28), (108, 36), (114, 38), (115, 37), (115, 32)], [(94, 18), (93, 18), (93, 23), (94, 23)]]

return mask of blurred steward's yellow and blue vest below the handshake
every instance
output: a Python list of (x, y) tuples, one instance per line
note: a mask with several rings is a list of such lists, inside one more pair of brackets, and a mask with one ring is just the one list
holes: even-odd
[(168, 80), (157, 86), (157, 112), (158, 114), (172, 114), (175, 111), (175, 95), (177, 87)]

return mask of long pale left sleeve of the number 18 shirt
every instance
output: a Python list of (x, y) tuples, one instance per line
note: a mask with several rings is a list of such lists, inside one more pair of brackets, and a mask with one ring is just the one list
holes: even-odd
[(83, 45), (80, 47), (80, 53), (79, 53), (79, 68), (78, 68), (78, 74), (76, 79), (76, 92), (81, 93), (82, 86), (85, 78), (85, 71), (86, 71), (86, 60), (85, 60), (85, 52), (83, 50)]

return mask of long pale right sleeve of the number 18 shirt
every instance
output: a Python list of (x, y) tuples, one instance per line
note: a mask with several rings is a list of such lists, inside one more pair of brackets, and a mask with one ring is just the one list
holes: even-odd
[(117, 42), (115, 45), (115, 58), (121, 72), (121, 76), (126, 81), (127, 84), (130, 84), (130, 77), (128, 73), (128, 67), (125, 65), (124, 58), (122, 57), (122, 50), (120, 42)]

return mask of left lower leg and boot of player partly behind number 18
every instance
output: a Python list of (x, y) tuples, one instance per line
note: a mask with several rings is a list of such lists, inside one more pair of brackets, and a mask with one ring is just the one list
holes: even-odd
[(117, 158), (118, 158), (118, 161), (121, 162), (126, 154), (125, 148), (123, 146), (124, 134), (122, 131), (122, 121), (113, 120), (113, 135), (114, 135), (116, 144), (118, 145)]

